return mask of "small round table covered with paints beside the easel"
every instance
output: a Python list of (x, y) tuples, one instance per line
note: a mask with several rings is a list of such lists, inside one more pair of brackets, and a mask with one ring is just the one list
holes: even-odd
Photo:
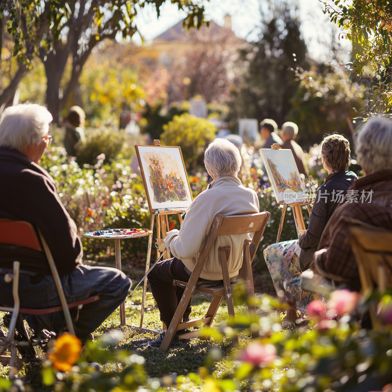
[[(98, 234), (99, 233), (99, 234)], [(89, 231), (84, 233), (85, 237), (96, 240), (114, 240), (116, 252), (116, 268), (121, 271), (121, 246), (120, 240), (128, 238), (146, 237), (152, 234), (148, 229), (108, 229)], [(120, 305), (120, 324), (125, 325), (125, 301)]]

